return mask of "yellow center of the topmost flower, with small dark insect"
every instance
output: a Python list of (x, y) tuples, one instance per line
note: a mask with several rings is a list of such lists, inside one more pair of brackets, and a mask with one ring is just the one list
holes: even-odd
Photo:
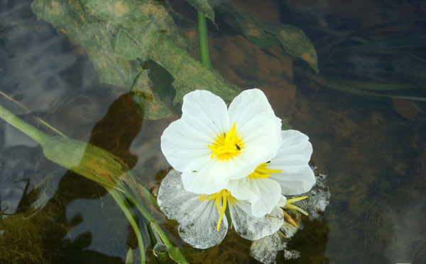
[(234, 123), (229, 132), (217, 136), (217, 138), (214, 139), (213, 145), (208, 145), (208, 147), (212, 150), (212, 159), (216, 156), (219, 161), (228, 161), (240, 154), (241, 149), (244, 149), (244, 144), (238, 134), (236, 134), (236, 126)]

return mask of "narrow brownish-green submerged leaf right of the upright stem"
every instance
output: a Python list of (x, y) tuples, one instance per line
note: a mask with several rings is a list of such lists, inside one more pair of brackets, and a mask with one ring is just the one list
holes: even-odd
[(238, 33), (253, 42), (254, 45), (266, 49), (275, 45), (282, 45), (290, 56), (305, 61), (318, 72), (318, 58), (315, 47), (300, 28), (293, 25), (277, 25), (260, 21), (240, 11), (232, 4), (222, 4), (220, 11), (229, 17), (229, 23)]

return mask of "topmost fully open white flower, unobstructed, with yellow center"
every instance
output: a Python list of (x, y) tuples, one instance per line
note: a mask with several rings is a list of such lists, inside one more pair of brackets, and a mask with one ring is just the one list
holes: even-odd
[(243, 91), (229, 108), (209, 91), (193, 91), (183, 98), (180, 120), (163, 132), (161, 150), (182, 172), (185, 190), (213, 194), (270, 161), (281, 144), (280, 127), (258, 89)]

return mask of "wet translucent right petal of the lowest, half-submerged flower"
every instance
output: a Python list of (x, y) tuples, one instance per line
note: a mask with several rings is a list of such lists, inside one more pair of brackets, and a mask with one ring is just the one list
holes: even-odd
[(264, 217), (254, 217), (250, 203), (241, 200), (229, 203), (229, 214), (236, 232), (249, 240), (269, 236), (278, 231), (284, 223), (283, 210), (280, 207), (275, 207), (271, 214)]

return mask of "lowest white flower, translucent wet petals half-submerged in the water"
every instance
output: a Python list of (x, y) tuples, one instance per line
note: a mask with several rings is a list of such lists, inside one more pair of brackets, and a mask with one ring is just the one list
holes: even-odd
[(228, 190), (212, 195), (187, 192), (182, 186), (181, 173), (175, 170), (163, 179), (157, 200), (165, 215), (178, 221), (180, 237), (195, 248), (209, 248), (224, 239), (229, 226), (227, 207), (234, 229), (244, 239), (261, 239), (274, 234), (284, 224), (280, 208), (283, 202), (271, 214), (255, 217), (250, 203), (237, 200)]

